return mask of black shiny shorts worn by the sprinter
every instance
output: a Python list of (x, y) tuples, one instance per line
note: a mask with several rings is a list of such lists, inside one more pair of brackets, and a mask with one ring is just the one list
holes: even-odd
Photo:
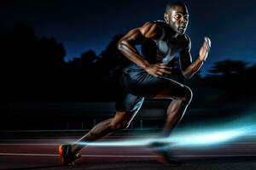
[(120, 77), (121, 90), (116, 100), (116, 111), (135, 111), (141, 107), (144, 98), (154, 98), (161, 91), (175, 84), (182, 84), (166, 77), (153, 77), (146, 71), (124, 72)]

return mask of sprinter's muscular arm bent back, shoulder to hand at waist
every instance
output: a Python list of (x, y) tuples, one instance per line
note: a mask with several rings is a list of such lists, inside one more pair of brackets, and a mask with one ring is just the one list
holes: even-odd
[(147, 22), (144, 26), (129, 31), (119, 40), (118, 48), (127, 59), (130, 59), (136, 65), (142, 67), (148, 74), (158, 77), (164, 73), (170, 74), (169, 69), (164, 64), (151, 65), (146, 59), (137, 52), (136, 45), (142, 44), (146, 39), (159, 40), (163, 34), (163, 30), (152, 22)]

